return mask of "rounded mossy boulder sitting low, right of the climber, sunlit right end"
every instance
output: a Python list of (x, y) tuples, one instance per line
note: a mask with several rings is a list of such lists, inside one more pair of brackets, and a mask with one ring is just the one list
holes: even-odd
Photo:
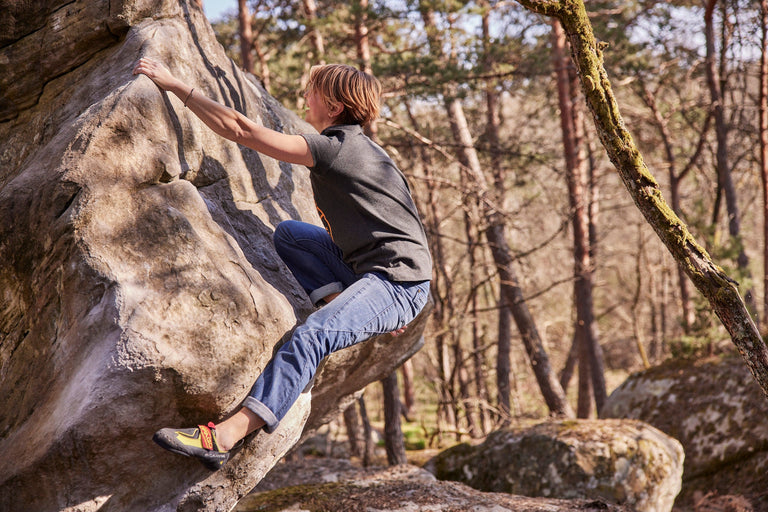
[(578, 420), (492, 433), (426, 466), (441, 480), (524, 496), (604, 498), (669, 511), (680, 492), (680, 443), (639, 421)]

